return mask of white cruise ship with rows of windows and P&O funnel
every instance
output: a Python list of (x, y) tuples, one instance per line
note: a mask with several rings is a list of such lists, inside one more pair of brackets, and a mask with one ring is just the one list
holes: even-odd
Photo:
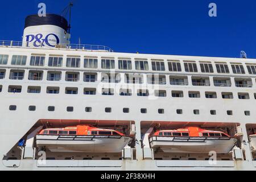
[[(118, 53), (105, 46), (69, 44), (63, 24), (35, 22), (27, 26), (50, 26), (60, 32), (46, 28), (50, 31), (43, 34), (37, 27), (36, 35), (30, 30), (21, 43), (0, 42), (0, 169), (255, 170), (255, 59)], [(97, 139), (103, 141), (100, 152), (61, 150), (58, 142), (65, 145), (88, 137), (57, 136), (71, 126), (92, 126), (128, 137), (112, 136), (122, 138), (117, 142), (121, 151), (104, 144), (110, 142), (110, 134), (106, 140)], [(188, 127), (218, 137), (213, 140), (222, 150), (200, 152), (205, 135), (197, 136), (196, 152), (172, 150), (174, 139), (179, 148), (188, 147), (180, 140), (189, 141), (191, 136), (183, 134), (168, 134), (172, 140), (164, 143), (168, 150), (152, 146), (152, 139), (164, 140), (152, 137), (156, 131), (174, 133)], [(52, 141), (47, 143), (39, 134), (48, 130), (55, 133), (43, 137), (54, 140), (57, 150), (49, 150)], [(214, 132), (221, 136), (211, 136)], [(89, 135), (91, 140), (103, 137)], [(222, 139), (231, 141), (225, 141), (228, 149)], [(75, 148), (84, 144), (70, 143)], [(210, 141), (211, 148), (216, 143)]]

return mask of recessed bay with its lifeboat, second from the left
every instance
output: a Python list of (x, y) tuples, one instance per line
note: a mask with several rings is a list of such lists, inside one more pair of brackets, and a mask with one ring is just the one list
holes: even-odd
[[(240, 123), (142, 121), (143, 154), (155, 160), (233, 160)], [(146, 159), (144, 158), (144, 159)]]

